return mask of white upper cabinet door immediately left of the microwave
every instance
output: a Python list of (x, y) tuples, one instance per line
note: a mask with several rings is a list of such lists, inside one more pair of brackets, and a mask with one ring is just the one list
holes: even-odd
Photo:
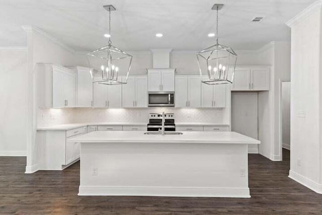
[(135, 107), (147, 107), (147, 79), (135, 78)]

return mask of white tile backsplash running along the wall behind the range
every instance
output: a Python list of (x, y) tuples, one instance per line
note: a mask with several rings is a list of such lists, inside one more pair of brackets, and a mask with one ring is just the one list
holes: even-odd
[(37, 126), (82, 122), (147, 122), (149, 113), (175, 113), (176, 122), (223, 122), (214, 108), (44, 108), (37, 110)]

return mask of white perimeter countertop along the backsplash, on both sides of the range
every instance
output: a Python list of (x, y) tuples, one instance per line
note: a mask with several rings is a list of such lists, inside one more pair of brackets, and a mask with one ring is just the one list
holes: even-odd
[[(37, 130), (70, 130), (88, 125), (129, 125), (129, 126), (146, 126), (147, 122), (84, 122), (84, 123), (70, 123), (51, 126), (40, 126)], [(177, 126), (229, 126), (229, 124), (212, 123), (212, 122), (176, 122)]]

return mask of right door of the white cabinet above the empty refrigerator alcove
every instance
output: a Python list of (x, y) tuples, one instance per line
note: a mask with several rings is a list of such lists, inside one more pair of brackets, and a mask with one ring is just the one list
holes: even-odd
[(251, 90), (269, 90), (270, 79), (269, 79), (268, 68), (252, 68), (251, 69)]

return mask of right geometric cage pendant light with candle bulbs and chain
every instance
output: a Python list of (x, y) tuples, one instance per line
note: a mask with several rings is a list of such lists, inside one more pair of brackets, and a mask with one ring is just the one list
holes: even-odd
[[(201, 82), (208, 85), (231, 84), (236, 67), (237, 54), (232, 48), (218, 43), (218, 11), (222, 4), (215, 4), (216, 10), (216, 44), (197, 53)], [(207, 74), (204, 78), (203, 74)]]

